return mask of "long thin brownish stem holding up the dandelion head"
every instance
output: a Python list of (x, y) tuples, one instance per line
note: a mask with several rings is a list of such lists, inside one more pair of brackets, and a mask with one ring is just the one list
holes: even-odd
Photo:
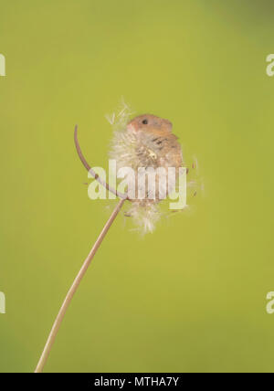
[(120, 212), (121, 206), (123, 205), (124, 202), (125, 202), (125, 199), (121, 199), (119, 201), (119, 203), (117, 204), (117, 206), (115, 207), (115, 209), (111, 213), (111, 217), (107, 221), (105, 227), (103, 227), (102, 231), (100, 232), (99, 237), (97, 238), (96, 242), (94, 243), (93, 247), (91, 248), (90, 254), (88, 255), (87, 259), (84, 261), (81, 269), (79, 269), (79, 273), (76, 276), (76, 279), (73, 281), (73, 283), (68, 291), (68, 294), (67, 294), (67, 296), (66, 296), (66, 298), (65, 298), (65, 300), (64, 300), (64, 302), (58, 312), (58, 316), (52, 326), (51, 332), (48, 335), (47, 343), (46, 343), (45, 348), (43, 350), (43, 353), (41, 354), (41, 357), (38, 361), (35, 373), (40, 373), (43, 371), (43, 368), (47, 362), (48, 354), (51, 351), (52, 345), (53, 345), (55, 338), (57, 336), (61, 322), (64, 319), (65, 313), (68, 310), (68, 305), (69, 305), (70, 301), (72, 300), (74, 293), (77, 291), (80, 281), (82, 280), (87, 269), (89, 268), (91, 260), (93, 259), (94, 255), (96, 254), (96, 251), (100, 247), (100, 244), (101, 244), (103, 238), (105, 238), (108, 230), (110, 229), (111, 224), (115, 220), (115, 217), (117, 217), (118, 213)]

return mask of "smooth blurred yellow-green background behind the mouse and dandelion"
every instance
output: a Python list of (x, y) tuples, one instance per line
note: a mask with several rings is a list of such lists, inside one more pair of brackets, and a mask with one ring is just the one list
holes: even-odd
[(32, 372), (116, 201), (90, 201), (121, 96), (174, 123), (205, 196), (142, 238), (122, 215), (47, 372), (273, 371), (273, 1), (0, 3), (0, 371)]

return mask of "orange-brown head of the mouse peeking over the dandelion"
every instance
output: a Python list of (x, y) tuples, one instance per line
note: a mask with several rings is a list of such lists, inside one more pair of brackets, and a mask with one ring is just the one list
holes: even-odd
[(172, 132), (173, 124), (172, 122), (156, 117), (153, 114), (142, 114), (133, 118), (133, 120), (128, 123), (127, 128), (128, 130), (133, 130), (135, 132), (150, 132), (154, 130)]

